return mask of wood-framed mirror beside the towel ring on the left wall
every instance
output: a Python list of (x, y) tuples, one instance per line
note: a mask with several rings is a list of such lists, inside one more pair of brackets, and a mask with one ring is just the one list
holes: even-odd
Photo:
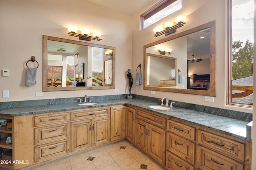
[[(111, 56), (106, 51), (112, 51)], [(110, 75), (111, 82), (105, 82), (104, 75)], [(43, 35), (44, 92), (114, 88), (115, 47)]]

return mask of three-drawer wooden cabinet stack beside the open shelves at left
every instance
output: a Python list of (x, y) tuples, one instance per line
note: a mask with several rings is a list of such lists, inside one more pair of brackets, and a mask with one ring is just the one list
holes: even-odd
[(70, 152), (70, 113), (53, 112), (34, 117), (35, 162), (64, 156)]

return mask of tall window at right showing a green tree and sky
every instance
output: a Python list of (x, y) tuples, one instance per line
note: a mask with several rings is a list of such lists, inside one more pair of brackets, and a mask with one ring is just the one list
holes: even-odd
[(253, 0), (228, 0), (227, 104), (252, 107)]

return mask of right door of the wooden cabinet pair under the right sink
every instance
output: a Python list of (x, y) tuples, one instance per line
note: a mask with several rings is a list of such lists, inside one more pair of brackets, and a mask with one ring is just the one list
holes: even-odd
[(148, 124), (148, 155), (165, 166), (166, 131)]

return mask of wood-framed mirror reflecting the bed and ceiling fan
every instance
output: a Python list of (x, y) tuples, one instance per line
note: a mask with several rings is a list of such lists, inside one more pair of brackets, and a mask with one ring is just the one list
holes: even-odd
[(144, 45), (143, 88), (216, 96), (215, 54), (215, 21)]

